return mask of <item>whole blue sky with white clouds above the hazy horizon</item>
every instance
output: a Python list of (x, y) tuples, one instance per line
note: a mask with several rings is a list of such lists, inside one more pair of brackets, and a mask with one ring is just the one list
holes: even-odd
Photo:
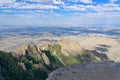
[(120, 0), (0, 0), (0, 25), (120, 27)]

